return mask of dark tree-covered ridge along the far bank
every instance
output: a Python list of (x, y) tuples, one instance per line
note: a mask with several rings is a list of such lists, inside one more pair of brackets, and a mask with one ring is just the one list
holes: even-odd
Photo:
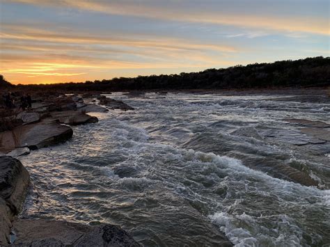
[(247, 89), (280, 87), (330, 86), (330, 57), (318, 56), (297, 61), (253, 63), (226, 69), (201, 72), (120, 77), (81, 83), (29, 85), (29, 89), (58, 90), (181, 90), (181, 89)]

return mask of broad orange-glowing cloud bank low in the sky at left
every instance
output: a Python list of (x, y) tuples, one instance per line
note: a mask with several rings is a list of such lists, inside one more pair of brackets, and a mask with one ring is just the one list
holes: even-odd
[(86, 35), (77, 29), (70, 33), (61, 28), (48, 29), (48, 24), (42, 26), (2, 24), (1, 72), (73, 77), (86, 74), (81, 72), (84, 70), (205, 67), (223, 63), (217, 54), (239, 51), (194, 40), (116, 33)]

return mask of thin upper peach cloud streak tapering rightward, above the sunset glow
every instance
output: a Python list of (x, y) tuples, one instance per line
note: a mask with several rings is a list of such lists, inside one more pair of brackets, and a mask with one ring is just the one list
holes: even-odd
[[(61, 31), (47, 31), (45, 29), (33, 29), (25, 25), (2, 24), (0, 38), (16, 40), (36, 40), (45, 42), (77, 43), (77, 44), (98, 44), (98, 45), (120, 45), (126, 47), (146, 47), (149, 49), (172, 49), (172, 50), (200, 50), (209, 49), (223, 52), (237, 52), (237, 47), (229, 45), (214, 45), (198, 43), (194, 40), (180, 38), (155, 38), (143, 35), (141, 38), (134, 38), (137, 35), (86, 35), (75, 31), (74, 33), (63, 33)], [(125, 37), (126, 36), (126, 37)], [(134, 36), (134, 37), (133, 37)]]

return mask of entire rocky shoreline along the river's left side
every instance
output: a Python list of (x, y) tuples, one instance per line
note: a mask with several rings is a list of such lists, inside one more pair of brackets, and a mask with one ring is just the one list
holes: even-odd
[[(87, 102), (99, 97), (110, 109), (132, 109), (100, 95), (84, 97)], [(96, 117), (86, 113), (106, 111), (109, 110), (86, 104), (82, 97), (75, 95), (48, 95), (36, 99), (32, 109), (8, 115), (2, 121), (15, 119), (14, 127), (1, 126), (5, 130), (0, 132), (0, 246), (139, 246), (116, 225), (89, 226), (17, 217), (29, 189), (30, 175), (15, 157), (68, 141), (73, 135), (70, 125), (97, 122)]]

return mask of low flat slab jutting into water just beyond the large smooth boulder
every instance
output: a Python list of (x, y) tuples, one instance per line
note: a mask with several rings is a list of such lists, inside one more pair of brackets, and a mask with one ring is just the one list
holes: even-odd
[(84, 125), (98, 121), (96, 117), (81, 113), (81, 111), (54, 111), (50, 115), (65, 125)]

